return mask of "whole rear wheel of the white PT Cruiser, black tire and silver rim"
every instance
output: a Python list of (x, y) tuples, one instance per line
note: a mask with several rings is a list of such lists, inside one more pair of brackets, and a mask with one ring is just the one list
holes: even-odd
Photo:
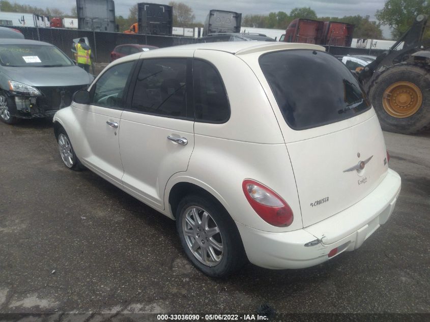
[(179, 203), (176, 227), (188, 258), (211, 277), (225, 277), (246, 262), (235, 222), (218, 203), (199, 195)]

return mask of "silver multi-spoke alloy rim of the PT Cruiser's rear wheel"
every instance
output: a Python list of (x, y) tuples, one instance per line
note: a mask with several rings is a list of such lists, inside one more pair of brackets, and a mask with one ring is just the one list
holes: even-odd
[(182, 217), (185, 241), (195, 258), (212, 267), (222, 259), (224, 245), (218, 225), (203, 208), (192, 206)]

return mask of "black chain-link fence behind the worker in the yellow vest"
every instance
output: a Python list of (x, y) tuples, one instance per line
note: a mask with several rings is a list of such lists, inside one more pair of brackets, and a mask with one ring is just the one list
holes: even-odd
[(25, 39), (44, 41), (55, 45), (74, 59), (72, 54), (73, 39), (87, 37), (93, 50), (94, 61), (108, 63), (110, 52), (118, 45), (142, 44), (157, 47), (195, 44), (200, 40), (190, 37), (169, 37), (155, 35), (122, 34), (108, 32), (92, 32), (62, 28), (13, 27), (19, 30)]

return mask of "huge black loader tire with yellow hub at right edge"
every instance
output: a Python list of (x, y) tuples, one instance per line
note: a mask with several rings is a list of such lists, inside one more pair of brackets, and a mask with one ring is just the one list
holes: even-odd
[(385, 131), (413, 134), (430, 128), (430, 74), (424, 65), (387, 68), (371, 82), (369, 98)]

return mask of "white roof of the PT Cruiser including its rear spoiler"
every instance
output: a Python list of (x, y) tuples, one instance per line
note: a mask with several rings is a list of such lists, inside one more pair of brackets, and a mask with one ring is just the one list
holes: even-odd
[(232, 54), (245, 54), (266, 50), (281, 50), (281, 49), (314, 49), (325, 51), (325, 48), (319, 45), (302, 44), (302, 43), (286, 43), (286, 42), (267, 42), (267, 41), (226, 41), (214, 43), (199, 43), (191, 45), (182, 45), (175, 47), (166, 47), (157, 49), (157, 52), (181, 50), (181, 49), (208, 49), (225, 51)]

